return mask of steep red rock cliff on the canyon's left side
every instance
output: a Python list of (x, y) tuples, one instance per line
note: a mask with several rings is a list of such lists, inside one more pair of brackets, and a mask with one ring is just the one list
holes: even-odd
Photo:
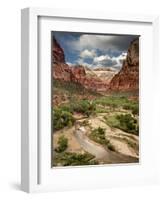
[(108, 89), (109, 83), (107, 81), (87, 77), (83, 66), (70, 67), (66, 64), (64, 51), (55, 38), (53, 39), (52, 55), (54, 79), (75, 82), (94, 91), (106, 91)]

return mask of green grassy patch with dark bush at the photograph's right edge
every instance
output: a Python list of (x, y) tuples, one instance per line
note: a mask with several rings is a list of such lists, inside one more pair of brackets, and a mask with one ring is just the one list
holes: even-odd
[(130, 114), (104, 116), (105, 122), (115, 128), (119, 128), (125, 132), (139, 134), (139, 126), (137, 120)]

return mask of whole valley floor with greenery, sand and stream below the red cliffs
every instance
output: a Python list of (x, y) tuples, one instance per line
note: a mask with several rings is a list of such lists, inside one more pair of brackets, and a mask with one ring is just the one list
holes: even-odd
[(53, 85), (53, 166), (139, 162), (138, 92), (99, 94)]

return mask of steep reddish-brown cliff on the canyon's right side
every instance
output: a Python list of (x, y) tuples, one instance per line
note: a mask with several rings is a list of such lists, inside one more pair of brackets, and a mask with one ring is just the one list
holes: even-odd
[(122, 69), (111, 82), (111, 90), (130, 91), (139, 88), (139, 39), (131, 42)]

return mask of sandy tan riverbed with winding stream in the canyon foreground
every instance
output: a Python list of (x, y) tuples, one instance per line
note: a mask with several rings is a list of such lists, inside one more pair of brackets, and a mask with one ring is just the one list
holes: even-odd
[[(106, 106), (101, 106), (101, 108), (109, 110)], [(114, 109), (110, 114), (108, 112), (99, 112), (84, 119), (79, 115), (79, 119), (76, 120), (73, 126), (55, 131), (53, 134), (54, 166), (65, 165), (64, 159), (62, 160), (63, 153), (57, 154), (55, 152), (58, 139), (61, 136), (68, 139), (68, 147), (65, 152), (79, 155), (87, 152), (93, 155), (92, 160), (97, 161), (95, 164), (139, 162), (139, 136), (127, 133), (119, 128), (111, 127), (105, 121), (105, 116), (127, 113), (131, 112), (124, 109)], [(105, 139), (109, 141), (110, 149), (105, 142), (101, 143), (91, 138), (92, 130), (97, 130), (99, 127), (105, 130)], [(58, 158), (59, 154), (60, 158)], [(74, 163), (71, 164), (75, 165)]]

